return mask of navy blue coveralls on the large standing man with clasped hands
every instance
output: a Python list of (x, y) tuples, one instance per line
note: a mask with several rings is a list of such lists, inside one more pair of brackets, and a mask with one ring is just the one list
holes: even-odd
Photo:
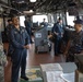
[(21, 77), (25, 77), (26, 49), (23, 46), (28, 44), (28, 35), (25, 28), (21, 26), (20, 31), (13, 26), (10, 35), (11, 35), (11, 42), (9, 49), (11, 51), (11, 59), (12, 59), (11, 82), (17, 82), (20, 67), (21, 67)]

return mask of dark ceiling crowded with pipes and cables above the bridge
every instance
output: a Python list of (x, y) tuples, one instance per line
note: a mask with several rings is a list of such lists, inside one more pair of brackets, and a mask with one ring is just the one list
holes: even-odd
[(9, 0), (9, 8), (11, 13), (17, 13), (28, 10), (35, 12), (51, 13), (59, 10), (68, 10), (70, 7), (83, 8), (83, 0), (37, 0), (36, 2), (29, 2), (29, 0)]

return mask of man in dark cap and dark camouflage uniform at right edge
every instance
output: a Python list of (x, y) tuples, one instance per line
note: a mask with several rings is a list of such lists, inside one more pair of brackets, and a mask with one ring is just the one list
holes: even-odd
[(74, 61), (74, 54), (81, 54), (83, 51), (83, 21), (78, 19), (74, 21), (75, 31), (72, 33), (70, 40), (68, 42), (64, 56), (66, 61)]

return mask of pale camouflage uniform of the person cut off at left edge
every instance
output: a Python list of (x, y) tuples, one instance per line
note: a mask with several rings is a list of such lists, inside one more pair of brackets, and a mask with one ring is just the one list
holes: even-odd
[(0, 43), (0, 82), (4, 82), (4, 70), (3, 67), (7, 62), (7, 57), (3, 52), (3, 45)]

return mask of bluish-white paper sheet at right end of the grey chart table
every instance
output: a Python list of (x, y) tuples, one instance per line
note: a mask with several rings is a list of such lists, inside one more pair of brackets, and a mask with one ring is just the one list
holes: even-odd
[(63, 80), (66, 80), (66, 82), (74, 82), (74, 75), (75, 75), (74, 72), (72, 72), (72, 73), (62, 73), (61, 78)]

